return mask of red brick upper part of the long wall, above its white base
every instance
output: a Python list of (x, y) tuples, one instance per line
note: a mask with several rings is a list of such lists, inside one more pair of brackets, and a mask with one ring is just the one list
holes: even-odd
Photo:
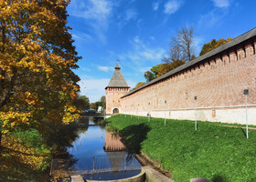
[[(256, 105), (256, 38), (203, 60), (182, 73), (122, 98), (122, 110), (243, 106), (243, 90), (249, 89), (248, 104)], [(166, 101), (166, 103), (165, 103)]]

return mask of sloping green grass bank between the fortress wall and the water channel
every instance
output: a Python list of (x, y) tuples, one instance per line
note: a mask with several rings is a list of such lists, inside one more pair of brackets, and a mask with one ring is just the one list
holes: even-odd
[(133, 152), (159, 161), (176, 182), (204, 177), (214, 182), (256, 181), (256, 130), (211, 122), (112, 116), (106, 120), (119, 131)]

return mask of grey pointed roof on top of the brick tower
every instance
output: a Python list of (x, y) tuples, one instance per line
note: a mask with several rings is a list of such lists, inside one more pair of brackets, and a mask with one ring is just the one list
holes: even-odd
[[(130, 86), (127, 85), (123, 74), (121, 72), (121, 67), (118, 63), (116, 63), (116, 66), (114, 67), (114, 73), (112, 75), (112, 79), (107, 87), (121, 87), (121, 88), (129, 88)], [(107, 88), (106, 87), (106, 88)]]

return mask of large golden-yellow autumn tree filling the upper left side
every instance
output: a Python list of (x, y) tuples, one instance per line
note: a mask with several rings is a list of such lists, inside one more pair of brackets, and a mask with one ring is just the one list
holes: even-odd
[[(79, 60), (67, 24), (69, 0), (0, 0), (0, 140), (14, 127), (77, 118)], [(0, 141), (1, 144), (1, 141)]]

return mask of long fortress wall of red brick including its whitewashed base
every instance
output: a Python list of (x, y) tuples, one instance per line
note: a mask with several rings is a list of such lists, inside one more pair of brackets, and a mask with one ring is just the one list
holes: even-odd
[[(256, 125), (256, 38), (121, 98), (123, 113)], [(195, 103), (194, 96), (197, 96)]]

